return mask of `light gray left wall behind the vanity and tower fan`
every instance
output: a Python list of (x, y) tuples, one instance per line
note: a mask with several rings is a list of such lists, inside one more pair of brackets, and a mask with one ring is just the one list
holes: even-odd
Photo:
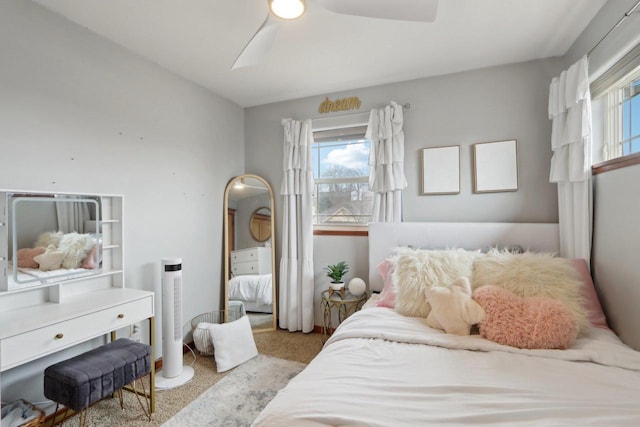
[[(185, 334), (220, 306), (243, 109), (22, 0), (0, 2), (0, 58), (0, 188), (124, 195), (126, 285), (156, 291), (161, 356), (162, 257), (183, 257)], [(38, 401), (28, 368), (3, 373), (3, 400)]]

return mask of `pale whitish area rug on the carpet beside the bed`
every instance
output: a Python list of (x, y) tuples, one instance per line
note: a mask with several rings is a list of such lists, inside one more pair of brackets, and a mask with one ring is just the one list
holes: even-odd
[(259, 354), (234, 368), (162, 426), (250, 426), (278, 390), (305, 366)]

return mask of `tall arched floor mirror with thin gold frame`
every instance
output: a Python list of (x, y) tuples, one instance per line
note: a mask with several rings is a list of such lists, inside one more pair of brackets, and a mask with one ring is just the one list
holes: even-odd
[(273, 190), (241, 175), (224, 192), (225, 310), (246, 313), (254, 332), (276, 329)]

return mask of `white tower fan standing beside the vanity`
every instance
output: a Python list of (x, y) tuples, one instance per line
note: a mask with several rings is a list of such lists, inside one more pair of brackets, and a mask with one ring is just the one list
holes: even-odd
[(168, 389), (193, 378), (193, 368), (182, 364), (182, 258), (164, 258), (162, 273), (162, 369), (156, 388)]

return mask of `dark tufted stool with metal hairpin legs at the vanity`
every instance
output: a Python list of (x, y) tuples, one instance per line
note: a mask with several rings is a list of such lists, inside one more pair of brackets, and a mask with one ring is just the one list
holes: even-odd
[[(80, 425), (85, 425), (87, 408), (100, 399), (117, 393), (122, 407), (122, 388), (129, 383), (134, 383), (135, 388), (136, 379), (151, 374), (151, 363), (151, 346), (120, 338), (49, 366), (44, 371), (44, 395), (79, 412)], [(149, 401), (145, 399), (145, 408), (139, 393), (135, 394), (151, 420)]]

